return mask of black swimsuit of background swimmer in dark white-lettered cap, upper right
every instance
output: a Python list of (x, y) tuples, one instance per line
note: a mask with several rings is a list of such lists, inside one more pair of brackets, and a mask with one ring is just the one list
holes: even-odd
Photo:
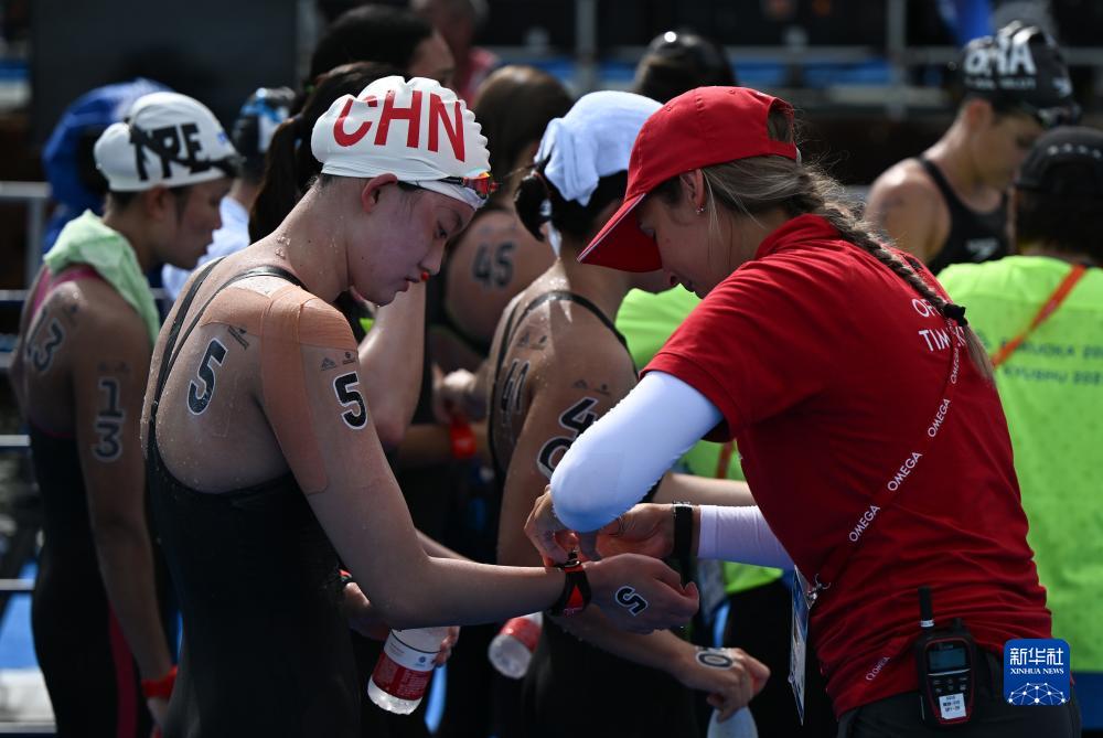
[(1010, 249), (1007, 237), (1007, 195), (1003, 195), (996, 210), (977, 213), (957, 197), (934, 162), (920, 157), (919, 163), (939, 188), (950, 211), (950, 233), (942, 248), (928, 264), (931, 274), (938, 275), (951, 264), (990, 261), (1007, 256)]

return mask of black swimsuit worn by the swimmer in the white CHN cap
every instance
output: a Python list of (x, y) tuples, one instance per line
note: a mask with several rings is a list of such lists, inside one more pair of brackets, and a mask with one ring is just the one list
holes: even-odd
[[(295, 478), (211, 494), (182, 484), (161, 459), (158, 404), (178, 335), (182, 345), (206, 308), (180, 335), (210, 274), (195, 279), (176, 313), (149, 417), (151, 504), (184, 619), (164, 735), (357, 736), (360, 697), (338, 557)], [(263, 274), (299, 284), (289, 272), (260, 267), (223, 288)]]

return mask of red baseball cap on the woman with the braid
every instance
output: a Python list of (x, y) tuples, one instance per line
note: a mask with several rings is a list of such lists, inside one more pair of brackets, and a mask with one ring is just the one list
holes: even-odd
[(698, 87), (652, 114), (632, 147), (624, 202), (578, 260), (622, 271), (662, 268), (654, 238), (640, 231), (632, 211), (644, 195), (683, 172), (771, 153), (795, 161), (795, 143), (770, 138), (767, 119), (774, 109), (793, 117), (789, 103), (757, 89)]

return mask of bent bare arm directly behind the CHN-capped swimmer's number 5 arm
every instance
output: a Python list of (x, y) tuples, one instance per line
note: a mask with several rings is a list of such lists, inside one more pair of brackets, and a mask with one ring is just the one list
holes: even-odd
[(401, 442), (421, 388), (425, 359), (425, 285), (411, 285), (394, 302), (378, 309), (372, 330), (360, 344), (364, 392), (379, 442)]

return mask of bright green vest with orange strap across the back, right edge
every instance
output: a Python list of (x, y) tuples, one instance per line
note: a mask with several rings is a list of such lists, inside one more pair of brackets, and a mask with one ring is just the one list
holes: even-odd
[[(939, 280), (993, 353), (1025, 329), (1070, 265), (1009, 256), (947, 267)], [(1077, 671), (1103, 672), (1103, 270), (996, 371), (1015, 451), (1027, 541)]]

